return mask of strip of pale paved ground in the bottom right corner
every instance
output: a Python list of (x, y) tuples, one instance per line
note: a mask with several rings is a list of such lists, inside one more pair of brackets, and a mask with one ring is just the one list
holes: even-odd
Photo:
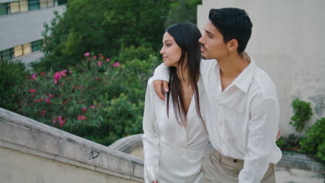
[(276, 183), (325, 183), (325, 175), (295, 168), (276, 166)]

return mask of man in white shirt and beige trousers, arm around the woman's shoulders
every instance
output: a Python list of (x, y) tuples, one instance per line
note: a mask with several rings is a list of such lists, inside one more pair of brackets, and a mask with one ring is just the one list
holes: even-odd
[[(276, 87), (244, 52), (251, 20), (238, 8), (211, 9), (200, 38), (201, 81), (208, 97), (206, 129), (215, 150), (202, 165), (203, 182), (275, 182), (279, 107)], [(217, 60), (217, 61), (216, 61)], [(160, 66), (154, 78), (168, 80)], [(157, 77), (158, 75), (158, 77)], [(165, 74), (166, 75), (166, 74)], [(158, 92), (166, 82), (155, 80)]]

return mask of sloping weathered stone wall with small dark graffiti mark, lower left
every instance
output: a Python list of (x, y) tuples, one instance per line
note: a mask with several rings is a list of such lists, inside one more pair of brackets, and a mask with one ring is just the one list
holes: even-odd
[(143, 180), (143, 160), (0, 108), (0, 180), (124, 182)]

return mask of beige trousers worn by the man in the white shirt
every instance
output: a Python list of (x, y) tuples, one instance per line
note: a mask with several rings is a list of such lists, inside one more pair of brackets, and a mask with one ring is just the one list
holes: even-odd
[[(238, 175), (244, 167), (244, 161), (233, 159), (220, 154), (213, 150), (206, 157), (202, 164), (203, 182), (204, 183), (235, 183), (238, 182)], [(275, 183), (274, 164), (270, 164), (265, 173), (263, 183)]]

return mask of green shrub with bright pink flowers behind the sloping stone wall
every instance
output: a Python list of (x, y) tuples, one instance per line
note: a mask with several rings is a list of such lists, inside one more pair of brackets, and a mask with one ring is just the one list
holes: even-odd
[(158, 58), (120, 64), (84, 57), (75, 67), (28, 76), (17, 89), (18, 112), (103, 145), (142, 132), (144, 93)]

